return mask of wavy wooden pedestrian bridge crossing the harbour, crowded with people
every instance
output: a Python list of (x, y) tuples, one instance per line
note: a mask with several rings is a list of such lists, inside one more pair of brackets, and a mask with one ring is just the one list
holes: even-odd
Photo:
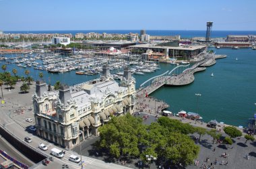
[[(137, 95), (150, 95), (157, 89), (162, 86), (183, 86), (187, 84), (191, 84), (195, 80), (195, 76), (193, 75), (195, 72), (205, 70), (206, 66), (212, 66), (216, 63), (217, 58), (226, 58), (226, 55), (216, 55), (216, 54), (208, 54), (201, 53), (199, 56), (202, 58), (199, 62), (193, 64), (193, 66), (189, 67), (190, 64), (180, 65), (172, 69), (160, 74), (158, 76), (154, 76), (140, 85), (139, 91), (137, 91)], [(199, 57), (198, 57), (199, 58)], [(173, 72), (182, 67), (189, 67), (180, 74), (173, 74)]]

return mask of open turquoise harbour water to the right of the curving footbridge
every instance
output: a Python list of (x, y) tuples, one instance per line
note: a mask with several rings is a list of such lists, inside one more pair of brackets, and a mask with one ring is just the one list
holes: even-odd
[[(196, 112), (198, 99), (198, 113), (203, 121), (216, 119), (247, 126), (247, 119), (253, 117), (256, 109), (256, 51), (220, 49), (216, 54), (226, 54), (227, 58), (195, 73), (192, 84), (163, 87), (152, 95), (166, 101), (174, 113), (181, 109)], [(197, 98), (195, 93), (200, 93), (201, 97)]]

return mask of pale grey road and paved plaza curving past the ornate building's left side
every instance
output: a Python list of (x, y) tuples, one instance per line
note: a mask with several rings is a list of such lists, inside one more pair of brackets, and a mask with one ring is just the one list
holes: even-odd
[[(32, 95), (35, 93), (35, 84), (32, 84), (30, 86), (29, 93), (19, 93), (20, 92), (20, 86), (22, 82), (18, 82), (16, 84), (15, 89), (12, 89), (11, 91), (8, 91), (3, 87), (3, 95), (5, 98), (5, 104), (0, 105), (0, 125), (4, 125), (5, 129), (7, 129), (9, 132), (13, 133), (16, 137), (22, 140), (24, 142), (24, 137), (28, 136), (32, 139), (31, 143), (24, 142), (25, 144), (28, 144), (28, 146), (31, 146), (32, 148), (35, 148), (36, 150), (46, 154), (46, 156), (52, 156), (50, 154), (52, 148), (58, 148), (61, 150), (60, 147), (55, 146), (46, 140), (38, 137), (35, 132), (31, 132), (29, 130), (30, 125), (34, 125), (34, 114), (32, 108)], [(33, 119), (32, 123), (26, 122), (26, 118)], [(45, 152), (43, 150), (40, 150), (38, 148), (38, 145), (42, 143), (45, 144), (48, 147), (48, 150)], [(5, 148), (5, 146), (4, 146)], [(63, 165), (68, 166), (69, 168), (81, 168), (79, 164), (76, 164), (74, 162), (69, 161), (69, 156), (71, 154), (74, 154), (76, 156), (79, 156), (76, 152), (73, 151), (65, 151), (65, 156), (62, 159), (54, 158), (54, 162), (51, 162), (51, 168), (62, 168)], [(98, 159), (89, 158), (87, 156), (82, 156), (82, 161), (84, 161), (84, 164), (86, 168), (127, 168), (125, 166), (120, 166), (113, 163), (106, 163)], [(34, 166), (34, 168), (44, 168), (48, 166), (42, 166), (42, 164), (38, 166)]]

